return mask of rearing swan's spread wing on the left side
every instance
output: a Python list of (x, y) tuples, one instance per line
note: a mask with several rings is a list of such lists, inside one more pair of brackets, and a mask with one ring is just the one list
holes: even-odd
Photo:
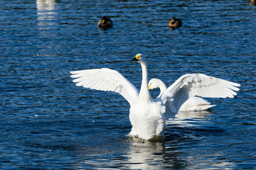
[(136, 101), (138, 91), (125, 77), (113, 69), (85, 69), (70, 72), (70, 77), (75, 78), (76, 86), (100, 90), (114, 91), (121, 94), (131, 105)]

